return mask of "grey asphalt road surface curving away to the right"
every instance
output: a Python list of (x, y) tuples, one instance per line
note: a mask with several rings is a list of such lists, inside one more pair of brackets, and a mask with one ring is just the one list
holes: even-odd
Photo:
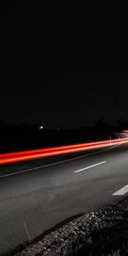
[[(72, 160), (71, 160), (72, 158)], [(73, 159), (74, 158), (74, 159)], [(56, 163), (57, 162), (57, 163)], [(128, 184), (128, 144), (65, 155), (47, 166), (0, 177), (0, 255), (65, 218), (115, 204)]]

